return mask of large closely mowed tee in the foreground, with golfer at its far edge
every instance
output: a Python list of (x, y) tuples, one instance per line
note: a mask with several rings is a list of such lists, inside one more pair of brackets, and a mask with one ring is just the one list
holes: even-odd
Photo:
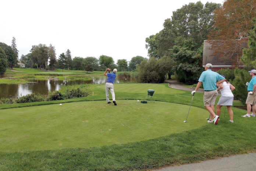
[(206, 125), (205, 109), (118, 100), (0, 110), (0, 151), (87, 148), (149, 140)]

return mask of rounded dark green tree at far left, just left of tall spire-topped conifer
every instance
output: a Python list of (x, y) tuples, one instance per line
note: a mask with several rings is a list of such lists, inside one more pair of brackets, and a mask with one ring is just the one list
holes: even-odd
[(8, 62), (8, 67), (13, 68), (15, 65), (17, 65), (17, 58), (16, 54), (11, 48), (11, 46), (8, 46), (5, 43), (0, 42), (0, 47), (4, 50), (4, 53), (7, 56), (7, 62)]

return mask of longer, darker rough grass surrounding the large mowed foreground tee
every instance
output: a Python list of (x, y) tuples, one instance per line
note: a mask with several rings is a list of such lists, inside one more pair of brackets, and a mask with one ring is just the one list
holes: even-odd
[[(61, 103), (104, 100), (104, 89), (100, 86), (92, 85), (92, 88), (90, 88), (95, 96), (63, 100)], [(141, 93), (126, 93), (121, 91), (121, 87), (118, 90), (118, 86), (115, 85), (117, 102), (120, 99), (145, 99), (146, 97), (146, 90)], [(141, 85), (131, 84), (131, 86), (133, 86), (133, 89), (139, 89)], [(167, 88), (167, 84), (165, 84), (164, 89), (166, 91), (173, 90)], [(153, 97), (154, 100), (189, 105), (192, 98), (191, 92), (178, 91), (184, 93), (155, 93)], [(196, 93), (192, 106), (204, 108), (202, 99), (202, 93)], [(60, 103), (60, 101), (47, 103)], [(8, 107), (0, 105), (0, 108), (35, 106), (47, 103), (19, 104), (19, 106), (14, 104)], [(218, 125), (206, 124), (190, 131), (141, 142), (91, 148), (1, 152), (0, 170), (141, 170), (172, 164), (192, 163), (216, 158), (217, 156), (228, 156), (255, 150), (256, 145), (253, 143), (256, 141), (255, 118), (242, 118), (241, 115), (246, 113), (245, 110), (233, 108), (233, 111), (234, 124), (228, 122), (227, 111), (224, 118), (223, 108)], [(185, 120), (183, 117), (182, 120)], [(183, 124), (189, 124), (191, 117), (193, 115), (189, 115), (188, 122)], [(202, 117), (203, 122), (206, 123), (205, 113), (202, 114)]]

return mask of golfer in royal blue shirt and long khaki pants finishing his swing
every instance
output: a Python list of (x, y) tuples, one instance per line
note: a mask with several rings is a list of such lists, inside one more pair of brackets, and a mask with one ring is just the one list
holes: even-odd
[(107, 71), (111, 71), (109, 68), (107, 68), (107, 70), (104, 72), (104, 75), (107, 76), (107, 82), (105, 85), (105, 90), (106, 90), (106, 100), (107, 103), (110, 104), (111, 101), (109, 100), (109, 91), (112, 95), (112, 99), (113, 99), (113, 103), (115, 106), (117, 106), (117, 103), (115, 102), (115, 92), (114, 92), (114, 81), (115, 81), (115, 77), (117, 77), (116, 73), (117, 73), (117, 69), (114, 69), (112, 73), (108, 73)]

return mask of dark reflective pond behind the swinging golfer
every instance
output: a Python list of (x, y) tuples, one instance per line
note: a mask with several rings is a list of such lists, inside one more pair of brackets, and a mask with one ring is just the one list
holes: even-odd
[[(27, 94), (36, 93), (40, 95), (48, 95), (49, 92), (60, 90), (62, 86), (75, 84), (101, 84), (106, 83), (106, 76), (94, 76), (91, 80), (29, 80), (29, 83), (22, 84), (0, 84), (0, 98), (16, 98)], [(136, 82), (134, 80), (125, 80), (115, 78), (114, 83)]]

